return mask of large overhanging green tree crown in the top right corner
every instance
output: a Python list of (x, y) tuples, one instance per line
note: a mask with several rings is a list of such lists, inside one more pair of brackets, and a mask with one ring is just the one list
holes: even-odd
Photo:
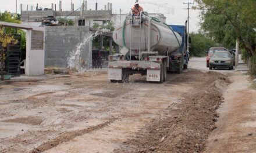
[(201, 30), (226, 48), (234, 48), (236, 38), (248, 56), (256, 56), (255, 0), (195, 0), (201, 10)]

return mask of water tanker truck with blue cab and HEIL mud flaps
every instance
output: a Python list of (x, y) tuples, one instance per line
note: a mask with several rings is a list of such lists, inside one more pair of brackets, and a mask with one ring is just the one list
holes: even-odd
[(146, 75), (150, 82), (164, 82), (167, 71), (180, 73), (187, 68), (186, 24), (167, 25), (145, 12), (129, 14), (113, 31), (113, 41), (122, 49), (109, 56), (111, 82), (127, 82), (133, 74)]

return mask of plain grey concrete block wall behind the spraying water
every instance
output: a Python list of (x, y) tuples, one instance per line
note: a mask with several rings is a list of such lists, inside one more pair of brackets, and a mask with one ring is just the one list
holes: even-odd
[[(70, 54), (80, 48), (80, 60), (83, 67), (90, 68), (92, 60), (93, 32), (89, 27), (46, 27), (45, 65), (67, 67)], [(85, 42), (86, 41), (86, 42)], [(82, 45), (81, 42), (83, 43)], [(80, 45), (80, 46), (79, 46)]]

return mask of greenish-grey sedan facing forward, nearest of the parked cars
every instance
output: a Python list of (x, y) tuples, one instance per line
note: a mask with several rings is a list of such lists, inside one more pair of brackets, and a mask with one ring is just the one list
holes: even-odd
[(212, 70), (212, 68), (229, 68), (229, 70), (233, 70), (233, 55), (227, 51), (215, 52), (209, 59), (209, 70)]

